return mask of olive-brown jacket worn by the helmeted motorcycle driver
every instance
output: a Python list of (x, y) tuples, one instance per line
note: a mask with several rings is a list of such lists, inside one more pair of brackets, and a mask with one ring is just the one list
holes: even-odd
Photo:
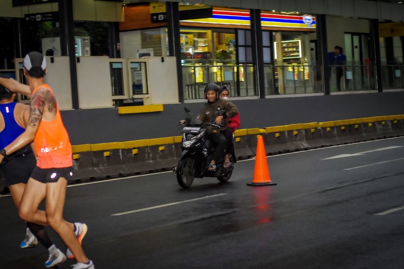
[(214, 102), (208, 101), (200, 110), (197, 119), (202, 122), (212, 123), (216, 120), (216, 118), (218, 117), (217, 113), (221, 110), (226, 111), (226, 114), (223, 115), (223, 121), (221, 123), (223, 127), (218, 129), (212, 126), (208, 126), (206, 128), (208, 132), (218, 133), (219, 131), (226, 130), (228, 125), (227, 118), (232, 118), (237, 114), (237, 106), (235, 106), (232, 102), (221, 98), (216, 99)]

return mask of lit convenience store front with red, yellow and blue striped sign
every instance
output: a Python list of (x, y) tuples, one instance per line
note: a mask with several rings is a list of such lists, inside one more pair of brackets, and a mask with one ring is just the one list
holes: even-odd
[[(262, 12), (261, 25), (266, 95), (321, 92), (321, 86), (316, 86), (321, 85), (321, 75), (315, 17)], [(134, 51), (168, 55), (164, 23), (150, 28), (153, 26), (124, 29), (120, 35), (122, 57), (138, 57)], [(138, 47), (133, 49), (136, 42)], [(209, 82), (226, 85), (233, 97), (258, 95), (249, 11), (214, 7), (210, 18), (182, 20), (180, 43), (185, 99), (203, 98)], [(128, 48), (132, 55), (126, 53)]]

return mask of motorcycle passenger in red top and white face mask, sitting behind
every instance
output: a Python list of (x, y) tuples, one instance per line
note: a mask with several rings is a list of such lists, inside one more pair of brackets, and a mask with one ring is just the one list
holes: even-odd
[[(223, 85), (219, 88), (219, 96), (222, 99), (228, 100), (230, 96), (230, 91), (227, 89), (226, 85)], [(221, 133), (226, 137), (226, 155), (223, 167), (227, 168), (231, 165), (230, 163), (230, 156), (233, 155), (234, 162), (236, 161), (236, 156), (234, 153), (234, 145), (233, 145), (233, 132), (236, 128), (240, 127), (240, 114), (237, 111), (236, 116), (232, 118), (228, 118), (228, 127), (226, 130), (221, 131)]]

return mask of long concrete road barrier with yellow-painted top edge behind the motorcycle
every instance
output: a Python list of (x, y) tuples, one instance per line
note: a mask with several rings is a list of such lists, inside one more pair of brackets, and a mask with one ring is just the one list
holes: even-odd
[[(257, 135), (266, 154), (279, 154), (404, 135), (404, 115), (237, 130), (237, 159), (255, 155)], [(171, 169), (181, 154), (181, 136), (126, 142), (74, 145), (73, 179), (88, 181)], [(4, 179), (0, 175), (0, 192)]]

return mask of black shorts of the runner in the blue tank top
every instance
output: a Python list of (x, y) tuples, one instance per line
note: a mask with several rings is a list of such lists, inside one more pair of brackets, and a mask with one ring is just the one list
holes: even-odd
[(25, 152), (16, 152), (7, 157), (1, 169), (6, 179), (6, 186), (27, 183), (36, 165), (35, 155), (29, 148)]

